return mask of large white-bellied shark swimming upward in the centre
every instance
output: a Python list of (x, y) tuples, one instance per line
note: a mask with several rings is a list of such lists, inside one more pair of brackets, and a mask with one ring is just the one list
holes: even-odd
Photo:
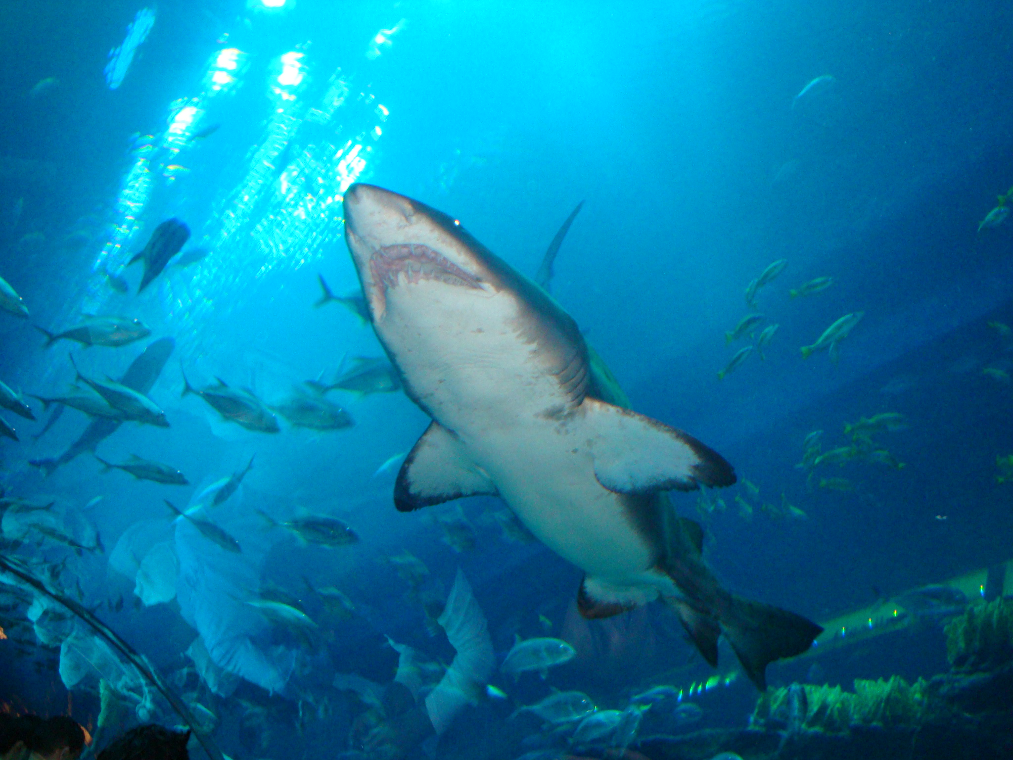
[(823, 629), (724, 589), (702, 527), (669, 499), (734, 483), (720, 454), (629, 408), (573, 318), (459, 220), (364, 183), (343, 211), (373, 329), (432, 419), (398, 472), (397, 510), (498, 497), (583, 571), (585, 617), (661, 599), (708, 663), (723, 635), (761, 690), (769, 663), (809, 649)]

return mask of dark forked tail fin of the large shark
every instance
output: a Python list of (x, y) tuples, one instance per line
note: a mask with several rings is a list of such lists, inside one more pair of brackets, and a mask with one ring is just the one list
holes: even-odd
[(823, 632), (821, 626), (794, 612), (733, 595), (721, 614), (721, 629), (746, 675), (761, 691), (767, 688), (768, 664), (801, 655)]

